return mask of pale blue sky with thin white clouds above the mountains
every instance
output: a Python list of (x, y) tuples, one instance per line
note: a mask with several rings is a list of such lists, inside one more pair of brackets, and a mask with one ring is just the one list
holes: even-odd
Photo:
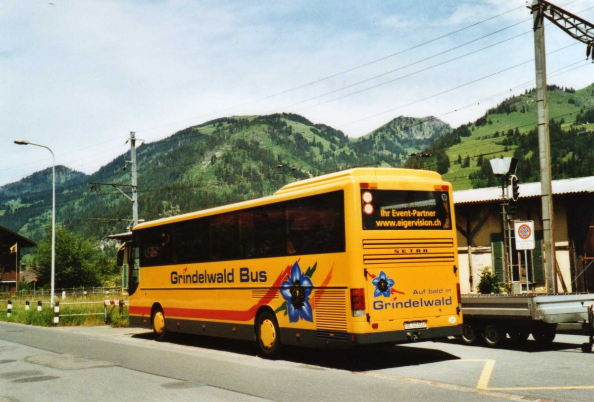
[[(594, 21), (589, 0), (554, 4)], [(359, 137), (397, 116), (453, 127), (535, 86), (525, 0), (0, 2), (0, 186), (93, 173), (211, 119), (290, 112)], [(548, 83), (594, 82), (545, 26)]]

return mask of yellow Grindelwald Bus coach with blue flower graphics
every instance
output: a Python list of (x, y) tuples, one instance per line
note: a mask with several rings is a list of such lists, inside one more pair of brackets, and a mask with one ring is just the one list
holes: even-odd
[(130, 324), (254, 340), (264, 357), (460, 335), (451, 195), (435, 172), (358, 168), (138, 224)]

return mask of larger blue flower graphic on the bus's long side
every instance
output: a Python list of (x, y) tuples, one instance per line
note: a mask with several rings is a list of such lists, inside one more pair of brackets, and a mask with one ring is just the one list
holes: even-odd
[(287, 300), (287, 312), (289, 322), (299, 321), (299, 317), (305, 321), (314, 321), (314, 315), (309, 304), (309, 295), (314, 284), (311, 279), (301, 272), (298, 261), (295, 261), (291, 268), (291, 275), (280, 285), (280, 294)]

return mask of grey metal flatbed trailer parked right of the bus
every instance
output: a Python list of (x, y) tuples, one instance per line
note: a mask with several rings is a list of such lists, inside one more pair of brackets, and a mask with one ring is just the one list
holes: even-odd
[(462, 295), (462, 340), (466, 344), (483, 339), (496, 347), (505, 341), (522, 343), (530, 334), (539, 343), (551, 343), (558, 331), (571, 331), (589, 336), (582, 345), (592, 351), (594, 293), (546, 295)]

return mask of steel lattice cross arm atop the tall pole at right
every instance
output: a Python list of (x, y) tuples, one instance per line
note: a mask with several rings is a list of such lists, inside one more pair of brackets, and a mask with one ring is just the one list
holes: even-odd
[[(591, 51), (592, 46), (594, 46), (594, 25), (545, 0), (538, 0), (538, 2), (534, 2), (528, 8), (530, 8), (532, 12), (538, 13), (538, 17), (545, 17), (547, 20), (560, 27), (574, 39), (586, 43), (586, 58), (588, 58), (591, 53), (592, 61), (594, 62), (594, 51)], [(540, 19), (541, 18), (536, 18), (536, 20)]]

